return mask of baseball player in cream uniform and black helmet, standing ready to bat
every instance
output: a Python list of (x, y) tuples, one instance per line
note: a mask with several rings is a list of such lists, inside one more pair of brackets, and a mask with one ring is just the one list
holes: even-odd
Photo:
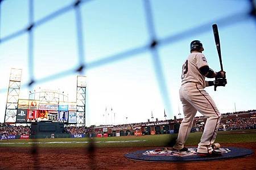
[[(174, 150), (188, 151), (184, 143), (191, 131), (196, 112), (199, 111), (207, 118), (201, 141), (197, 147), (199, 156), (218, 156), (214, 151), (212, 144), (217, 135), (218, 126), (220, 125), (221, 113), (218, 111), (212, 97), (204, 90), (208, 86), (225, 86), (225, 71), (215, 72), (209, 68), (204, 54), (203, 44), (199, 40), (192, 41), (190, 52), (186, 59), (180, 87), (180, 100), (183, 104), (184, 118), (181, 122), (179, 135), (173, 146)], [(214, 81), (205, 81), (207, 78), (217, 78)]]

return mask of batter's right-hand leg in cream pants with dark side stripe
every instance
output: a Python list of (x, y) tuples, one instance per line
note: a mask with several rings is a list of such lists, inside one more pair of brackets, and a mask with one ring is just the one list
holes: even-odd
[(199, 91), (200, 95), (195, 95), (193, 97), (192, 105), (205, 117), (207, 118), (207, 122), (205, 123), (204, 132), (201, 137), (201, 141), (197, 148), (197, 152), (200, 153), (209, 153), (213, 151), (212, 144), (215, 141), (218, 126), (220, 125), (221, 113), (218, 111), (216, 104), (212, 100), (212, 97), (203, 90), (198, 84), (197, 91)]

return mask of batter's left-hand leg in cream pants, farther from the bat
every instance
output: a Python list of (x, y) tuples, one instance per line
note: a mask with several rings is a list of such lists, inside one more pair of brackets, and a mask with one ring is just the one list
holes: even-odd
[(196, 109), (185, 99), (184, 91), (182, 88), (180, 90), (180, 100), (183, 104), (184, 118), (180, 124), (179, 135), (177, 137), (176, 143), (173, 148), (180, 150), (184, 147), (184, 143), (188, 139), (188, 135), (191, 131), (193, 125), (193, 119), (196, 115)]

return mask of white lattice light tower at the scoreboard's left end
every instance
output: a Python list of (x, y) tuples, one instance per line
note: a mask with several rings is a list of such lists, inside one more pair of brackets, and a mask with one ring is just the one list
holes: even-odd
[(11, 69), (4, 122), (16, 122), (21, 77), (22, 69)]

